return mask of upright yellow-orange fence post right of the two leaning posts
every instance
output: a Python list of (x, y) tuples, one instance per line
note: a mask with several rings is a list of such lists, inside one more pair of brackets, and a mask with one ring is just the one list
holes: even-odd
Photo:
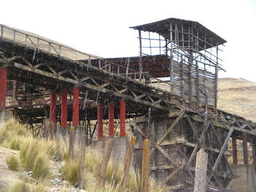
[(141, 191), (149, 191), (149, 177), (150, 177), (150, 146), (149, 140), (145, 139), (143, 142), (143, 156), (142, 156), (142, 184)]

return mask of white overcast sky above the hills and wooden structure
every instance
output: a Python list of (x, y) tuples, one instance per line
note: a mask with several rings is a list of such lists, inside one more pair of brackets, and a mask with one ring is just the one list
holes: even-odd
[(129, 27), (166, 18), (198, 21), (228, 41), (219, 77), (256, 82), (255, 0), (8, 0), (0, 11), (0, 24), (102, 57), (138, 56), (138, 32)]

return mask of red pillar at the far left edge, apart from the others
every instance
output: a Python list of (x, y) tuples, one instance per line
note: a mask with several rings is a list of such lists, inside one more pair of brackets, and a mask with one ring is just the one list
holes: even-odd
[(6, 108), (7, 68), (0, 68), (0, 110)]

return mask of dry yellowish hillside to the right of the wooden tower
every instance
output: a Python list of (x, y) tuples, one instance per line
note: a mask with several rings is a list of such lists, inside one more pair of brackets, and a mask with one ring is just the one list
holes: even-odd
[(256, 122), (256, 83), (239, 78), (218, 82), (217, 108)]

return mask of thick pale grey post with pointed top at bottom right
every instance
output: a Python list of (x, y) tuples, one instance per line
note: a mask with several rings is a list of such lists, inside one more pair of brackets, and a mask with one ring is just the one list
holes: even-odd
[(207, 163), (208, 153), (203, 148), (196, 155), (196, 177), (194, 183), (194, 192), (205, 192), (207, 182)]

